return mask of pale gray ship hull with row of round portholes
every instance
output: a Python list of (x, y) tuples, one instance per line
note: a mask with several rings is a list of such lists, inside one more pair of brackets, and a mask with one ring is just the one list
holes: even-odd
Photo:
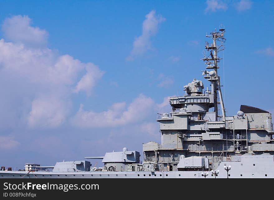
[[(224, 166), (231, 166), (227, 172)], [(241, 161), (221, 161), (211, 171), (81, 171), (39, 172), (0, 171), (0, 178), (274, 178), (274, 156), (242, 158)], [(208, 173), (208, 174), (207, 174)], [(206, 174), (206, 177), (203, 175)]]

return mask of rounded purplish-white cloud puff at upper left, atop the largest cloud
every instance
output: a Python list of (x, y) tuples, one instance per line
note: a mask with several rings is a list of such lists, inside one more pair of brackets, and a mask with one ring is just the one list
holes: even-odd
[(29, 45), (45, 45), (48, 33), (38, 27), (31, 26), (28, 16), (12, 16), (4, 20), (2, 30), (5, 37), (12, 42), (20, 42)]

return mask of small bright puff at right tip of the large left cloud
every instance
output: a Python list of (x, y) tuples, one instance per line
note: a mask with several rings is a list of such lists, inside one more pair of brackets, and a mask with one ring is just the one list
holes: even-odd
[(82, 77), (82, 79), (77, 83), (74, 92), (78, 93), (83, 90), (90, 95), (91, 90), (95, 86), (98, 80), (100, 80), (104, 74), (98, 66), (88, 63), (86, 66), (87, 73)]

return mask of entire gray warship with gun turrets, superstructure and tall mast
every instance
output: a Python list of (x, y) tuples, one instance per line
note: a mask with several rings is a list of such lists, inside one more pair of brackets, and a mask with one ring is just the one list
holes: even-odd
[[(206, 87), (194, 79), (182, 96), (170, 97), (170, 113), (158, 114), (161, 144), (143, 143), (140, 153), (123, 148), (107, 152), (104, 166), (92, 168), (89, 161), (63, 161), (50, 170), (0, 171), (0, 178), (274, 178), (274, 132), (272, 116), (260, 108), (241, 105), (226, 116), (218, 74), (224, 50), (225, 30), (206, 37), (209, 56), (201, 60)], [(209, 110), (212, 111), (209, 111)]]

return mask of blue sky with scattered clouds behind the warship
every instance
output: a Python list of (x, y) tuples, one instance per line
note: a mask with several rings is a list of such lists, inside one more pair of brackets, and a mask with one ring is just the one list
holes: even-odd
[[(1, 1), (0, 164), (102, 156), (160, 142), (157, 112), (224, 24), (228, 115), (274, 111), (273, 1)], [(223, 66), (224, 65), (224, 66)], [(225, 72), (225, 73), (224, 73)], [(107, 117), (107, 119), (106, 119)]]

